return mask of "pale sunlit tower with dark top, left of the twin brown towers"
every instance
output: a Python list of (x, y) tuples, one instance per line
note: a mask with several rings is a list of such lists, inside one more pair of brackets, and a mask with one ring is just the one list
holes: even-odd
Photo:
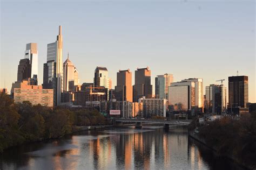
[(96, 67), (93, 83), (95, 87), (105, 87), (109, 89), (109, 72), (106, 67)]

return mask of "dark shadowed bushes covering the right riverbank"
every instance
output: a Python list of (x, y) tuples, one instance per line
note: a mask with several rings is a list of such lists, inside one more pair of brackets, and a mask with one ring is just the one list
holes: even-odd
[(240, 119), (224, 117), (189, 128), (189, 135), (211, 148), (217, 155), (227, 157), (238, 164), (256, 169), (256, 112), (244, 114)]

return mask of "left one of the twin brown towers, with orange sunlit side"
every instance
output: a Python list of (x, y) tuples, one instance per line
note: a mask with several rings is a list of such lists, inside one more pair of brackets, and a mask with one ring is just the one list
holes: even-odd
[(130, 69), (119, 70), (117, 73), (115, 97), (117, 101), (132, 102), (132, 72)]

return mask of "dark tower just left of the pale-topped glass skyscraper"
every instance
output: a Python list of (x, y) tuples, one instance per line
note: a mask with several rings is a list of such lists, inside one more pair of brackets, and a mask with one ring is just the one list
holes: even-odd
[(29, 59), (19, 60), (17, 81), (31, 78), (31, 65)]

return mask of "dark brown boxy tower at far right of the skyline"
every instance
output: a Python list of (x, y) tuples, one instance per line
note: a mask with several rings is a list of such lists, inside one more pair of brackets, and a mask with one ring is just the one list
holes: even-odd
[(246, 108), (248, 103), (248, 76), (228, 77), (228, 107)]

